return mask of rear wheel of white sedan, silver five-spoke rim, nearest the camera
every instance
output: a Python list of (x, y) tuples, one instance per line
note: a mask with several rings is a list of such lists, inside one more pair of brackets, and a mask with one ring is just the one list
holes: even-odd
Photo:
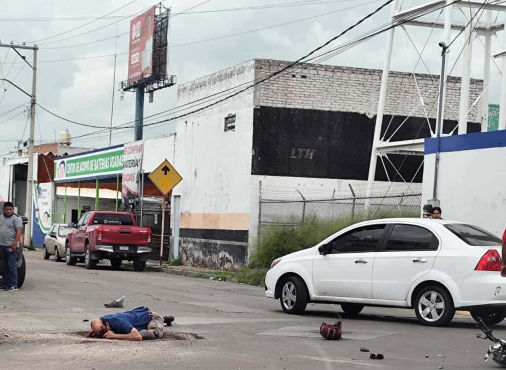
[(414, 311), (418, 321), (430, 327), (446, 326), (455, 315), (450, 294), (438, 286), (425, 287), (418, 292)]

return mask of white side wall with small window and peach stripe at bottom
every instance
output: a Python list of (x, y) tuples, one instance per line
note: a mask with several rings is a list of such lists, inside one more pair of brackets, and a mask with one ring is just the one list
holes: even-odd
[[(254, 73), (250, 61), (180, 85), (178, 105), (250, 82)], [(253, 106), (251, 91), (177, 121), (174, 166), (183, 181), (173, 195), (181, 196), (181, 227), (248, 229)], [(236, 128), (225, 132), (229, 113)]]

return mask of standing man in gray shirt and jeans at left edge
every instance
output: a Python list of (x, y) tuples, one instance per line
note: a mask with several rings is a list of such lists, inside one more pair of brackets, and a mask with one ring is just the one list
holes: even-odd
[(4, 203), (4, 213), (0, 215), (0, 257), (4, 269), (4, 284), (0, 289), (8, 292), (18, 290), (18, 243), (21, 240), (23, 220), (14, 213), (11, 202)]

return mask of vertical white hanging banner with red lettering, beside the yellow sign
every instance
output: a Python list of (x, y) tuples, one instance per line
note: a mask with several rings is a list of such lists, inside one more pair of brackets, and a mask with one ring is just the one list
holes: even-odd
[(125, 144), (121, 175), (121, 210), (133, 212), (139, 208), (140, 176), (144, 142)]

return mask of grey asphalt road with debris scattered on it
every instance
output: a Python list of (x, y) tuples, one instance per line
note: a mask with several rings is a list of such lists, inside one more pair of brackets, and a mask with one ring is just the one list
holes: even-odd
[[(310, 305), (302, 316), (281, 311), (263, 288), (162, 272), (96, 270), (43, 260), (26, 252), (27, 278), (18, 292), (0, 291), (0, 368), (5, 369), (488, 369), (489, 345), (467, 316), (448, 328), (417, 324), (409, 310), (367, 308), (344, 317), (344, 338), (317, 330), (333, 321), (335, 305)], [(176, 316), (163, 340), (88, 339), (82, 332), (104, 303), (126, 295), (124, 310), (147, 306)], [(506, 338), (504, 324), (495, 327)], [(384, 360), (371, 360), (382, 353)], [(428, 357), (426, 357), (428, 356)]]

